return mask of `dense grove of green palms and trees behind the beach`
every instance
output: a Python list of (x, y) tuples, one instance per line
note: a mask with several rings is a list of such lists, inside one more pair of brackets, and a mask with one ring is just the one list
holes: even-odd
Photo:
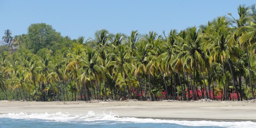
[[(158, 35), (111, 34), (71, 40), (52, 26), (6, 30), (0, 47), (0, 99), (254, 99), (256, 9)], [(18, 50), (12, 47), (18, 46)]]

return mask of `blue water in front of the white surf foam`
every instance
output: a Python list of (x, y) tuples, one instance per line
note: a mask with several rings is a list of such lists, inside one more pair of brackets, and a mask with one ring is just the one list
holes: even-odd
[[(117, 121), (93, 121), (93, 122), (51, 122), (40, 119), (10, 119), (0, 118), (0, 127), (3, 128), (196, 128), (197, 126), (184, 126), (174, 123), (133, 123)], [(216, 126), (200, 126), (200, 128), (221, 128)]]

